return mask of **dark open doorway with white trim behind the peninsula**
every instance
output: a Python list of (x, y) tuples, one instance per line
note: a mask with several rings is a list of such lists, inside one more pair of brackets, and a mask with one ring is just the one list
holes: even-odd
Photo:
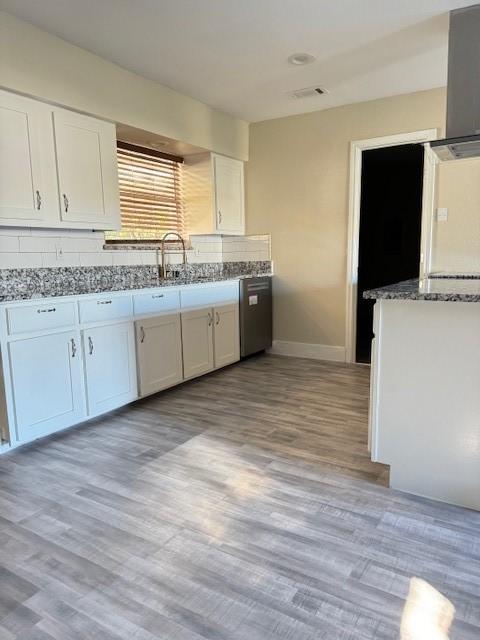
[(362, 153), (356, 361), (370, 362), (374, 300), (367, 289), (416, 278), (420, 267), (423, 146)]

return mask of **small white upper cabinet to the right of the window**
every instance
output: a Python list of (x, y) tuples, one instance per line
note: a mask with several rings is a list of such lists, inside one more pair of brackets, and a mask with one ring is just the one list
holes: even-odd
[(245, 234), (243, 162), (216, 153), (187, 156), (184, 205), (189, 234)]

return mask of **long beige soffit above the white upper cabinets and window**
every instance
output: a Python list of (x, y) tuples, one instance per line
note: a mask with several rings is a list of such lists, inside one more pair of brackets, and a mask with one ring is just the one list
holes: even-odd
[(248, 158), (248, 123), (0, 12), (0, 86)]

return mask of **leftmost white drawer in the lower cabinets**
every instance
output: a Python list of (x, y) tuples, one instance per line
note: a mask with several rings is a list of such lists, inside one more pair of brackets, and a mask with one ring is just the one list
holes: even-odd
[(27, 331), (48, 331), (74, 324), (74, 302), (50, 302), (7, 309), (7, 326), (10, 335)]

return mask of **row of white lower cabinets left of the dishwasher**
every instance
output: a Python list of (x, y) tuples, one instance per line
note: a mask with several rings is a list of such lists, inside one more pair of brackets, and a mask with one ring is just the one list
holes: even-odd
[[(122, 292), (2, 305), (2, 437), (26, 443), (236, 362), (232, 287), (189, 288), (183, 301), (184, 291), (172, 290), (135, 294), (135, 304)], [(192, 301), (198, 306), (181, 311)], [(135, 320), (135, 307), (159, 315)]]

